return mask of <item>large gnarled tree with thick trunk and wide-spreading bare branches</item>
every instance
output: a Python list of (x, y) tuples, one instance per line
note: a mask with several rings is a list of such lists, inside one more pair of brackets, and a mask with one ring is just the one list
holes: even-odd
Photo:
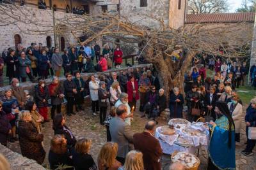
[[(195, 24), (175, 30), (164, 25), (163, 20), (159, 18), (144, 16), (144, 19), (159, 22), (159, 29), (150, 29), (137, 25), (138, 22), (131, 22), (127, 17), (103, 14), (97, 16), (67, 15), (64, 18), (58, 18), (60, 24), (50, 27), (47, 23), (38, 22), (33, 17), (33, 13), (24, 11), (24, 8), (21, 10), (19, 6), (16, 8), (16, 10), (7, 8), (8, 11), (5, 11), (6, 8), (2, 6), (0, 13), (8, 13), (6, 23), (10, 21), (10, 24), (23, 22), (26, 25), (34, 25), (34, 27), (20, 28), (27, 34), (71, 32), (81, 45), (106, 37), (119, 39), (127, 43), (126, 45), (138, 45), (139, 55), (154, 64), (159, 73), (161, 86), (166, 92), (173, 87), (183, 89), (184, 74), (188, 71), (195, 53), (239, 57), (242, 52), (237, 49), (244, 45), (250, 46), (252, 42), (252, 31), (244, 23), (223, 24), (213, 28), (207, 27), (206, 24)], [(86, 36), (88, 39), (81, 42), (80, 36)], [(232, 42), (232, 44), (227, 45), (227, 42)], [(220, 48), (224, 53), (219, 52)], [(180, 57), (175, 57), (175, 52), (180, 52)]]

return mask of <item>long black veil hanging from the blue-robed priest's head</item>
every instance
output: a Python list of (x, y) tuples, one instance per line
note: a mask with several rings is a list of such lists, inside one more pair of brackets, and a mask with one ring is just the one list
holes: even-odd
[(231, 148), (231, 143), (232, 143), (232, 124), (235, 128), (235, 123), (234, 120), (232, 118), (232, 116), (230, 115), (230, 111), (228, 110), (228, 105), (227, 103), (223, 102), (223, 101), (216, 101), (216, 107), (218, 107), (218, 109), (220, 110), (220, 112), (225, 115), (228, 118), (228, 147)]

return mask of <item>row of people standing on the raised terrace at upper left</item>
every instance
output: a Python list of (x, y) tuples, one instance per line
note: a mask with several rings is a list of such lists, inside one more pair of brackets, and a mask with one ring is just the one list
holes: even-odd
[[(31, 43), (31, 46), (24, 48), (17, 45), (17, 50), (8, 48), (1, 53), (0, 57), (0, 87), (3, 87), (4, 66), (6, 66), (6, 77), (9, 83), (12, 78), (18, 78), (25, 82), (37, 81), (49, 76), (60, 76), (62, 69), (64, 75), (77, 71), (80, 73), (95, 73), (97, 71), (107, 71), (113, 67), (121, 67), (123, 52), (120, 46), (115, 50), (108, 44), (101, 49), (95, 45), (70, 46), (63, 53), (58, 48), (48, 48), (42, 43), (38, 45)], [(95, 59), (95, 64), (94, 64)]]

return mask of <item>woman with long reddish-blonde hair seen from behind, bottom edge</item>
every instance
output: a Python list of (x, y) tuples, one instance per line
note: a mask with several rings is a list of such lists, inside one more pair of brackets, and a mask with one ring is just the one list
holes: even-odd
[(117, 143), (108, 142), (102, 146), (98, 157), (99, 170), (117, 170), (122, 166), (122, 164), (116, 160), (117, 150)]

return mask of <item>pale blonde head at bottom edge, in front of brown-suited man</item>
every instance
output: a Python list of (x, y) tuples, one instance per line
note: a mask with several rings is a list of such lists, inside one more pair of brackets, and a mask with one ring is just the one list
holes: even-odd
[(127, 153), (124, 166), (118, 170), (144, 170), (143, 154), (139, 151), (132, 150)]

